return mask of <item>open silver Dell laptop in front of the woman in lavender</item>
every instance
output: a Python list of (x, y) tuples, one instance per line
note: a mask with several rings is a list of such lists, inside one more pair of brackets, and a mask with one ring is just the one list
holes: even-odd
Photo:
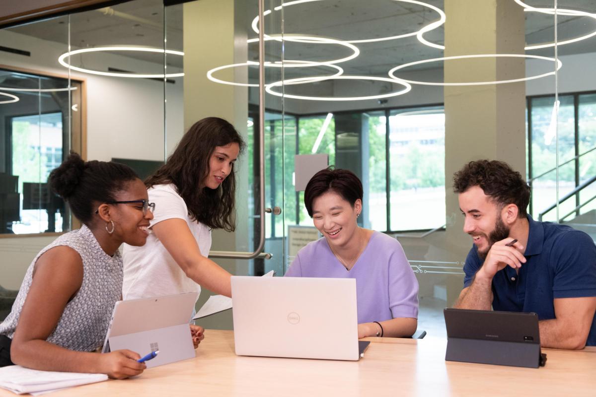
[(355, 279), (232, 276), (237, 355), (358, 360)]

